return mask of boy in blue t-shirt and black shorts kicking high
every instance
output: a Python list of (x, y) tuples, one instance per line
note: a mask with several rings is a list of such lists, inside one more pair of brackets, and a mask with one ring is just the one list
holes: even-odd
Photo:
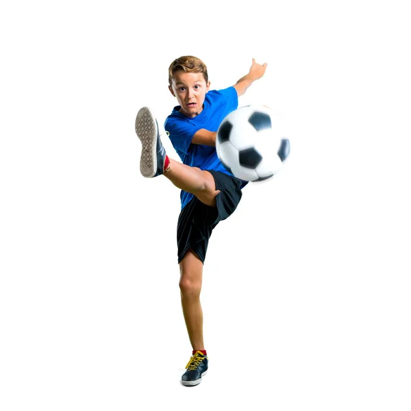
[(182, 384), (195, 386), (208, 370), (203, 343), (203, 312), (200, 292), (208, 239), (214, 227), (230, 216), (247, 182), (229, 173), (216, 155), (216, 132), (221, 121), (238, 108), (238, 97), (260, 79), (267, 64), (252, 60), (249, 73), (234, 86), (210, 90), (206, 64), (184, 55), (169, 66), (169, 90), (177, 105), (164, 128), (181, 162), (166, 155), (158, 123), (147, 107), (136, 117), (136, 134), (142, 143), (140, 172), (144, 177), (164, 175), (181, 189), (181, 212), (177, 223), (179, 288), (192, 357)]

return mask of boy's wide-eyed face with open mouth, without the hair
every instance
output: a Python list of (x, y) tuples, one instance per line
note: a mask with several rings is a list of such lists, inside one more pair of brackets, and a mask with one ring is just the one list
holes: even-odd
[(210, 88), (210, 82), (206, 82), (203, 73), (186, 73), (177, 71), (174, 73), (172, 86), (169, 86), (171, 94), (181, 106), (179, 112), (187, 117), (198, 116), (203, 111), (204, 99)]

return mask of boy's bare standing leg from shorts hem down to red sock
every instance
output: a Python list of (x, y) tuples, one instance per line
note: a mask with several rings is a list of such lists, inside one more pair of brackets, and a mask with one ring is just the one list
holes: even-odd
[(203, 279), (203, 263), (192, 250), (179, 263), (179, 288), (182, 297), (184, 321), (192, 349), (204, 349), (203, 310), (200, 303), (201, 284)]

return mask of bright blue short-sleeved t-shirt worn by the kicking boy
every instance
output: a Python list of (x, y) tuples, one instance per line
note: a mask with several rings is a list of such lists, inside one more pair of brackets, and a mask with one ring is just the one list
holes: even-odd
[[(179, 105), (173, 108), (164, 122), (164, 129), (170, 133), (171, 143), (184, 164), (201, 170), (215, 170), (232, 175), (217, 157), (215, 147), (191, 144), (191, 140), (199, 129), (216, 132), (225, 116), (236, 108), (238, 108), (238, 95), (233, 86), (207, 92), (203, 110), (198, 116), (192, 118), (185, 116), (178, 111)], [(182, 209), (192, 197), (190, 192), (182, 190), (180, 194)]]

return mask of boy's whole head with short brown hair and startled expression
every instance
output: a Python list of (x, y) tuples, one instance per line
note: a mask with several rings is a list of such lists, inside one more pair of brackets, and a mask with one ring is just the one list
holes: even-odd
[(169, 66), (169, 90), (180, 105), (180, 112), (195, 117), (203, 110), (210, 88), (207, 66), (193, 55), (183, 55)]

